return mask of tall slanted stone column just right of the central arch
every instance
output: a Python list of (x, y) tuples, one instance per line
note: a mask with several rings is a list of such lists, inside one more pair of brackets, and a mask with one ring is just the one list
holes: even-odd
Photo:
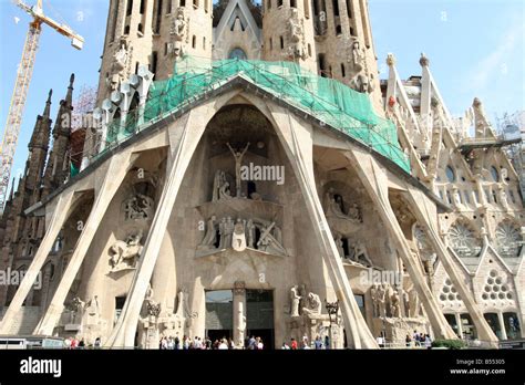
[(321, 257), (327, 264), (330, 280), (340, 303), (348, 343), (353, 348), (377, 348), (378, 344), (353, 296), (350, 282), (317, 194), (313, 176), (311, 133), (280, 107), (269, 106), (269, 108), (272, 110), (272, 116), (277, 122), (276, 132), (285, 147), (305, 197), (308, 215), (313, 223), (316, 237), (321, 248)]

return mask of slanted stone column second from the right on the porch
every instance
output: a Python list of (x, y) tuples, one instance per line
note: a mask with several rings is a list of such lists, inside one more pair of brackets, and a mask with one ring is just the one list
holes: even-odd
[(454, 331), (446, 322), (437, 301), (428, 287), (424, 275), (421, 274), (418, 269), (418, 262), (410, 251), (403, 230), (399, 226), (398, 219), (390, 206), (387, 176), (384, 171), (380, 169), (375, 159), (373, 159), (370, 154), (352, 149), (346, 152), (344, 155), (351, 162), (363, 187), (375, 204), (375, 208), (381, 216), (384, 226), (389, 230), (398, 252), (406, 267), (410, 278), (414, 283), (414, 288), (424, 305), (434, 333), (444, 339), (457, 339)]

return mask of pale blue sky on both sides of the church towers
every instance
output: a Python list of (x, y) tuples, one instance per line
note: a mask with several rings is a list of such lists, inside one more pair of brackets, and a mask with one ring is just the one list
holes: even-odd
[[(27, 0), (33, 4), (34, 0)], [(51, 3), (51, 6), (50, 6)], [(12, 175), (23, 171), (27, 145), (37, 114), (53, 89), (52, 118), (65, 95), (69, 76), (75, 90), (96, 86), (107, 0), (44, 0), (44, 11), (66, 22), (85, 39), (76, 51), (44, 25), (19, 137)], [(52, 7), (52, 8), (51, 8)], [(59, 14), (60, 12), (60, 14)], [(525, 2), (522, 0), (370, 0), (370, 17), (381, 77), (389, 52), (403, 79), (419, 75), (425, 52), (446, 105), (462, 114), (478, 96), (494, 117), (525, 108)], [(18, 18), (18, 19), (16, 19)], [(30, 18), (9, 0), (0, 0), (0, 125), (3, 132), (16, 71)]]

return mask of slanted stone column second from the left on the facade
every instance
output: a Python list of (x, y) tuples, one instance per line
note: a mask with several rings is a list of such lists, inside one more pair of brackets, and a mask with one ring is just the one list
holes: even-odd
[(125, 150), (120, 154), (115, 154), (109, 164), (105, 177), (102, 181), (102, 186), (96, 194), (93, 208), (91, 209), (90, 216), (84, 225), (79, 240), (76, 241), (73, 254), (71, 256), (68, 268), (56, 288), (56, 291), (51, 300), (51, 303), (43, 315), (40, 323), (37, 325), (33, 334), (51, 335), (56, 322), (62, 314), (64, 308), (64, 301), (71, 289), (76, 273), (84, 260), (84, 257), (90, 248), (93, 237), (99, 229), (101, 221), (104, 218), (105, 211), (110, 206), (113, 196), (121, 186), (124, 177), (130, 167), (131, 152)]

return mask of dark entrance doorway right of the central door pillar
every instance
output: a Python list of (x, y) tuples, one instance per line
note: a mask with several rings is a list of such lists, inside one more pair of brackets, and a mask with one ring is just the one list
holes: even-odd
[(265, 350), (275, 348), (274, 291), (246, 290), (246, 336), (260, 337)]

